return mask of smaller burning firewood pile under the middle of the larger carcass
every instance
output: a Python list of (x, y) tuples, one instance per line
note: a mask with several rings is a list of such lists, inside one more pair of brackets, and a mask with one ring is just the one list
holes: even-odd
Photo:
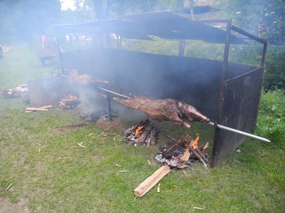
[(130, 145), (135, 146), (145, 144), (148, 148), (150, 145), (156, 144), (158, 132), (158, 129), (149, 122), (149, 119), (147, 119), (126, 129), (123, 132), (123, 134), (126, 135), (126, 138), (123, 140), (127, 141)]

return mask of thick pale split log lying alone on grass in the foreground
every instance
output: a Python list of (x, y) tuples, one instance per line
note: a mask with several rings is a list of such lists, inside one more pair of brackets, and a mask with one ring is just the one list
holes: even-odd
[(157, 169), (151, 176), (145, 179), (135, 190), (135, 195), (142, 197), (145, 195), (159, 180), (170, 172), (170, 168), (165, 165)]

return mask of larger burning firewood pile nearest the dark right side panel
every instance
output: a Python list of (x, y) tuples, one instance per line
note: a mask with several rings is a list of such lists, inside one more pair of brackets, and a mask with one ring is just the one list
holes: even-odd
[(191, 136), (188, 135), (182, 137), (169, 146), (161, 147), (154, 159), (157, 163), (176, 169), (189, 168), (197, 160), (200, 160), (207, 167), (209, 156), (206, 149), (209, 143), (201, 147), (198, 145), (198, 141), (199, 135), (196, 140), (192, 140)]

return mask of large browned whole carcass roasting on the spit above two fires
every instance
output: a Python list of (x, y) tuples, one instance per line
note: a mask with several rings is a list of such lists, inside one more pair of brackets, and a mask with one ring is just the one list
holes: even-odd
[(113, 100), (124, 107), (139, 109), (158, 122), (170, 121), (173, 125), (187, 128), (191, 126), (183, 119), (191, 122), (210, 122), (210, 119), (201, 114), (194, 106), (174, 99), (156, 100), (145, 96), (132, 96), (129, 99), (113, 98)]

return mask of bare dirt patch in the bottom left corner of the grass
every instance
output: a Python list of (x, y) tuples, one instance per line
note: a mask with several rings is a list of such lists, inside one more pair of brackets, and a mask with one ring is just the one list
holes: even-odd
[(21, 199), (19, 202), (12, 203), (9, 198), (0, 197), (0, 212), (23, 213), (31, 212), (27, 206), (28, 199)]

